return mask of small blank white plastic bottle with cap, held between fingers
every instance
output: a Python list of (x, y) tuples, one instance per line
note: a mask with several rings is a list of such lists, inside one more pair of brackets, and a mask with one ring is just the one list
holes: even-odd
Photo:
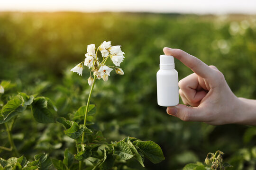
[(160, 106), (179, 104), (178, 72), (174, 69), (174, 57), (160, 55), (160, 69), (156, 74), (157, 103)]

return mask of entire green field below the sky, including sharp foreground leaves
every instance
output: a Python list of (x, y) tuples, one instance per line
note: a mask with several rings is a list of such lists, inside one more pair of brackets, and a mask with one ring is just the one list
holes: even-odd
[[(124, 75), (95, 83), (83, 126), (90, 69), (70, 70), (103, 41), (121, 45)], [(229, 170), (255, 170), (256, 127), (183, 122), (157, 105), (164, 47), (215, 65), (238, 97), (256, 99), (256, 16), (1, 12), (0, 170), (181, 170), (217, 150)], [(178, 60), (175, 69), (192, 73)]]

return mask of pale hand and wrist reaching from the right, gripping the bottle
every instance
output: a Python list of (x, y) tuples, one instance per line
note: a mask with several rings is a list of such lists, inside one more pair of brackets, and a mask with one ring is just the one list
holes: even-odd
[(237, 97), (218, 68), (180, 49), (165, 47), (164, 53), (179, 59), (194, 72), (179, 81), (179, 93), (185, 105), (167, 107), (169, 115), (210, 125), (256, 126), (256, 100)]

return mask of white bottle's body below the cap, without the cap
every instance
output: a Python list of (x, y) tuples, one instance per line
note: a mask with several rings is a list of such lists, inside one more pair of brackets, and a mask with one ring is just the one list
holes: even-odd
[(157, 103), (160, 106), (179, 104), (178, 72), (174, 69), (160, 69), (156, 74)]

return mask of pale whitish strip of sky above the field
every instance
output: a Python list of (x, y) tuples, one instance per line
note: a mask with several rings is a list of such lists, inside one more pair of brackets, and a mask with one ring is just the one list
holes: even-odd
[(256, 0), (0, 0), (0, 11), (256, 14)]

